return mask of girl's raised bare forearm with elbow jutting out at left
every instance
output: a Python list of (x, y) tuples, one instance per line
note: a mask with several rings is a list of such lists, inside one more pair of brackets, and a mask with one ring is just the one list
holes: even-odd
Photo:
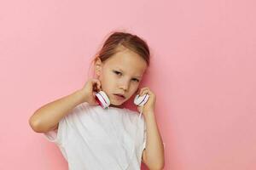
[(56, 99), (43, 105), (30, 117), (29, 123), (32, 129), (38, 133), (48, 132), (61, 118), (66, 116), (76, 105), (84, 102), (85, 96), (81, 90), (75, 91), (61, 99)]

